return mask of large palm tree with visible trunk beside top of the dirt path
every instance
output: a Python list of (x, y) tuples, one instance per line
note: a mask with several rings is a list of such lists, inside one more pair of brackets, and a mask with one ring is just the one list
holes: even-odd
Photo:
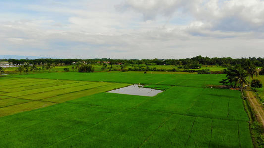
[(237, 72), (236, 72), (236, 76), (234, 77), (234, 81), (235, 81), (235, 85), (240, 84), (240, 91), (241, 91), (241, 95), (243, 98), (244, 98), (244, 95), (242, 92), (243, 83), (249, 84), (249, 80), (247, 80), (248, 76), (249, 75), (247, 74), (247, 72), (245, 70), (243, 70), (242, 68), (237, 68)]

